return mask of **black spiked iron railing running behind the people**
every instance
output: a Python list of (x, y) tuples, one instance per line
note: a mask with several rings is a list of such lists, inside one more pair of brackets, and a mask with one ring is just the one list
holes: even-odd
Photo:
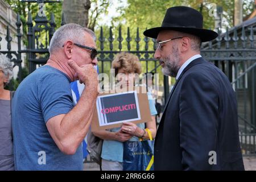
[[(61, 26), (65, 24), (64, 15), (62, 16)], [(7, 47), (0, 53), (8, 56), (14, 63), (14, 67), (22, 69), (22, 54), (26, 54), (30, 73), (40, 65), (46, 63), (49, 53), (48, 45), (52, 35), (55, 32), (56, 24), (54, 15), (47, 20), (44, 16), (36, 16), (34, 22), (31, 13), (28, 13), (27, 20), (27, 40), (28, 46), (21, 47), (22, 37), (20, 32), (22, 23), (19, 15), (16, 20), (16, 36), (18, 39), (18, 50), (11, 48), (12, 36), (9, 27), (6, 28)], [(154, 59), (156, 49), (155, 39), (143, 36), (142, 31), (137, 28), (134, 36), (131, 36), (130, 28), (127, 28), (125, 34), (122, 28), (118, 28), (117, 36), (113, 34), (113, 28), (109, 30), (100, 29), (98, 32), (98, 62), (101, 73), (108, 73), (111, 62), (120, 51), (134, 53), (142, 62), (144, 73), (160, 73), (159, 88), (164, 93), (164, 100), (167, 99), (170, 92), (169, 79), (162, 76), (160, 65)], [(105, 38), (104, 31), (108, 31), (108, 38)], [(243, 153), (246, 155), (255, 155), (255, 133), (256, 133), (256, 18), (245, 26), (235, 27), (226, 30), (225, 34), (218, 32), (219, 36), (201, 47), (201, 55), (206, 60), (214, 63), (228, 76), (237, 95), (238, 120), (240, 126), (240, 139)], [(125, 38), (124, 38), (125, 35)], [(0, 37), (0, 43), (2, 38)], [(1, 44), (0, 44), (1, 45)], [(21, 72), (18, 78), (21, 80)], [(162, 104), (164, 105), (164, 100)]]

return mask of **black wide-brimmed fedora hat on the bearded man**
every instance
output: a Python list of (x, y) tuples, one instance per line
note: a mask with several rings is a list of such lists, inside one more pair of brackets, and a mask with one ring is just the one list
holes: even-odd
[(217, 38), (218, 34), (203, 28), (203, 15), (186, 6), (170, 7), (166, 11), (161, 27), (150, 28), (143, 32), (145, 36), (156, 39), (162, 30), (174, 30), (199, 36), (201, 42)]

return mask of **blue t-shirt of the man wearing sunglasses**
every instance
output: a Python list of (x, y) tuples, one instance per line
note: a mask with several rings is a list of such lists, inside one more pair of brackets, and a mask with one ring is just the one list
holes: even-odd
[(68, 76), (48, 65), (20, 83), (12, 107), (16, 170), (82, 170), (81, 145), (74, 155), (63, 154), (46, 127), (74, 106)]

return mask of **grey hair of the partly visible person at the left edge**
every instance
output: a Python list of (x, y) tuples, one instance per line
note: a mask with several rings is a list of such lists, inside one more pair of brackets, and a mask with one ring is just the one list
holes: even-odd
[(8, 57), (5, 55), (0, 55), (0, 70), (3, 71), (3, 74), (7, 78), (7, 82), (4, 85), (8, 84), (13, 77), (13, 64)]

